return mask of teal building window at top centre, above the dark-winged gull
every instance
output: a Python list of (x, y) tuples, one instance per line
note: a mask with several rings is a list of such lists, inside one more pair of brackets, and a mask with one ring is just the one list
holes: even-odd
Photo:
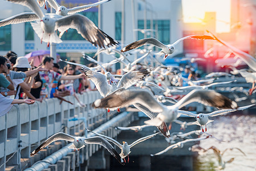
[[(157, 23), (157, 26), (156, 26)], [(144, 28), (144, 21), (139, 20), (138, 21), (138, 28)], [(151, 21), (147, 21), (147, 28), (151, 28)], [(153, 21), (153, 30), (156, 30), (157, 32), (153, 32), (156, 35), (157, 39), (159, 39), (160, 42), (164, 44), (170, 43), (170, 21), (169, 20), (159, 20), (159, 21)], [(147, 35), (147, 38), (150, 38), (151, 34)], [(144, 34), (140, 31), (138, 31), (138, 39), (144, 39)]]

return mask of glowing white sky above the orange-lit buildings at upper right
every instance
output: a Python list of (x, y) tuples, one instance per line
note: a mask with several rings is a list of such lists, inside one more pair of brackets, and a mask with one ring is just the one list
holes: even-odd
[(216, 11), (216, 31), (230, 31), (230, 1), (231, 0), (182, 0), (184, 22), (202, 22), (205, 12)]

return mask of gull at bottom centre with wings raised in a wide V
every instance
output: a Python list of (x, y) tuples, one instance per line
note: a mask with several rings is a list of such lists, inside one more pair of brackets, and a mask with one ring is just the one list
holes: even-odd
[[(87, 131), (90, 131), (89, 129), (87, 129)], [(92, 131), (90, 131), (92, 132)], [(157, 133), (154, 133), (152, 135), (149, 135), (149, 136), (145, 136), (145, 137), (142, 137), (136, 141), (134, 141), (132, 144), (128, 144), (127, 142), (123, 141), (123, 145), (121, 145), (118, 141), (112, 139), (111, 137), (108, 137), (108, 136), (105, 136), (105, 135), (102, 135), (100, 133), (96, 133), (96, 132), (92, 132), (92, 133), (95, 133), (97, 136), (100, 136), (100, 137), (103, 137), (104, 139), (108, 140), (108, 141), (111, 141), (113, 144), (115, 144), (116, 146), (118, 146), (120, 149), (121, 149), (121, 153), (119, 154), (121, 156), (121, 158), (124, 159), (124, 162), (125, 161), (125, 157), (128, 156), (128, 162), (129, 162), (129, 153), (131, 153), (131, 148), (133, 146), (135, 146), (136, 144), (139, 144), (145, 140), (148, 140), (150, 138), (152, 138), (153, 136), (156, 136), (157, 134), (159, 134), (160, 132), (157, 132)]]

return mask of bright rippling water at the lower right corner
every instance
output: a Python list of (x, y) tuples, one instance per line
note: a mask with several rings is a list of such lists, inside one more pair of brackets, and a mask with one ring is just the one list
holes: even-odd
[[(225, 170), (256, 170), (256, 115), (227, 115), (217, 117), (208, 125), (208, 133), (226, 142), (217, 142), (216, 139), (201, 141), (200, 146), (209, 148), (216, 146), (221, 152), (226, 148), (239, 148), (246, 156), (237, 149), (225, 152), (224, 161), (234, 157), (234, 161), (226, 164)], [(197, 157), (197, 170), (217, 170), (218, 160), (213, 150)]]

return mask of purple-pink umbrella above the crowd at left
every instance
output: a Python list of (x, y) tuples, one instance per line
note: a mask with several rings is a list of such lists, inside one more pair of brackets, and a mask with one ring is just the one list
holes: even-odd
[[(57, 62), (59, 62), (60, 55), (57, 55)], [(29, 62), (31, 62), (32, 59), (34, 59), (34, 66), (38, 67), (42, 63), (43, 56), (50, 56), (50, 51), (46, 50), (39, 50), (39, 51), (33, 51), (29, 54), (25, 55), (27, 59), (29, 59)]]

